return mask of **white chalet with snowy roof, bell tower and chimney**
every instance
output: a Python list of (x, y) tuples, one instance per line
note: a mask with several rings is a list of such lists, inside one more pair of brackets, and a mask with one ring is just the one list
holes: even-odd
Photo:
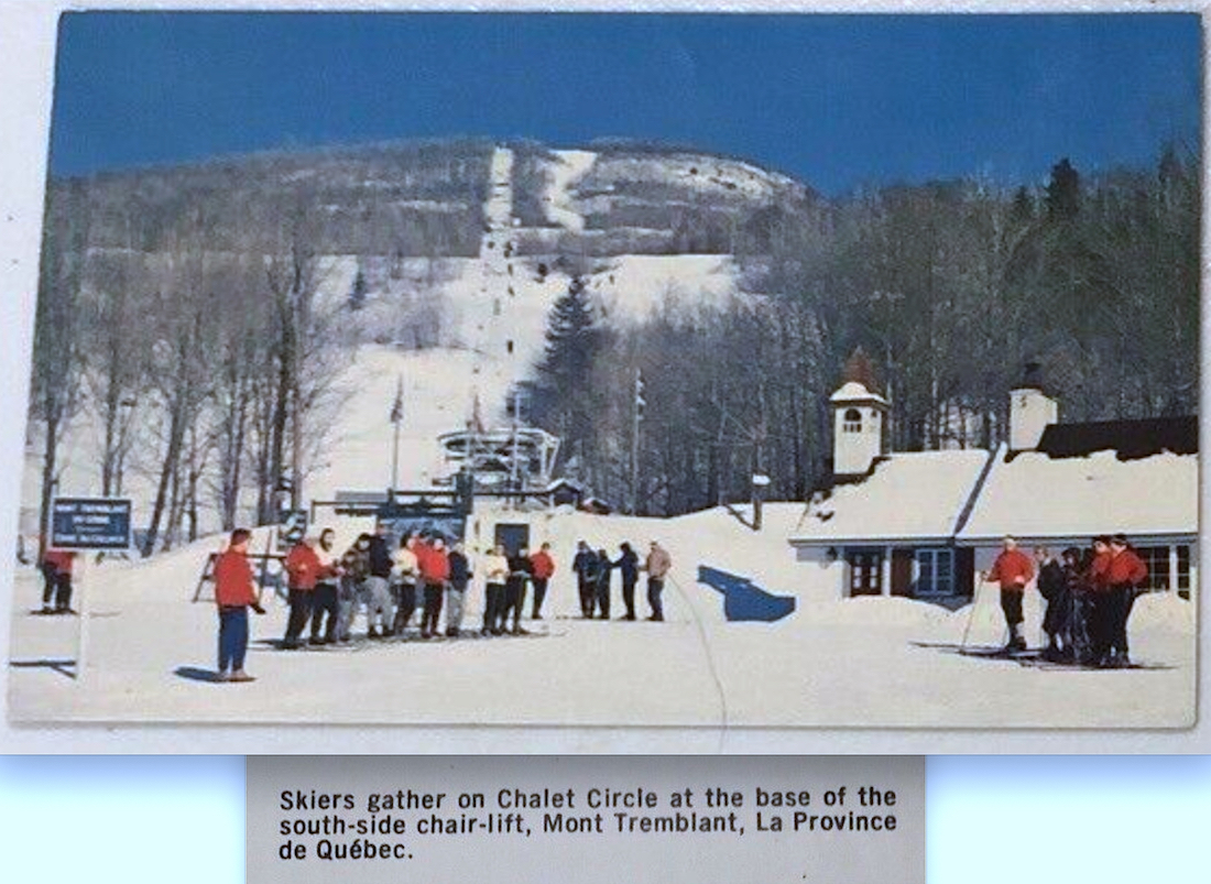
[(906, 596), (957, 605), (1005, 534), (1086, 547), (1126, 534), (1153, 589), (1189, 597), (1198, 570), (1195, 418), (1060, 424), (1035, 366), (1010, 392), (994, 452), (885, 450), (890, 404), (850, 360), (833, 409), (833, 480), (790, 536), (809, 587), (832, 597)]

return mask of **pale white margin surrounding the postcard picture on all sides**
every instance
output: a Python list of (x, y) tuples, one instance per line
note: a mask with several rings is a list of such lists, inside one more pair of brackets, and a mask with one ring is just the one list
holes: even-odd
[[(1207, 2), (981, 2), (966, 0), (940, 5), (937, 0), (912, 2), (854, 2), (819, 0), (731, 0), (642, 2), (645, 11), (661, 12), (1198, 12), (1206, 27)], [(274, 10), (274, 11), (627, 11), (625, 0), (480, 0), (480, 2), (362, 2), (357, 0), (0, 0), (0, 538), (15, 538), (21, 489), (23, 442), (28, 404), (34, 294), (42, 197), (50, 143), (51, 91), (58, 15), (65, 10)], [(1209, 80), (1204, 36), (1204, 194), (1207, 183), (1206, 96)], [(1204, 208), (1204, 214), (1206, 208)], [(1207, 279), (1209, 225), (1203, 229), (1204, 291)], [(1203, 408), (1200, 436), (1206, 440), (1209, 329), (1211, 310), (1204, 295), (1201, 328)], [(1206, 501), (1209, 472), (1201, 470)], [(1207, 512), (1200, 515), (1200, 550), (1207, 546)], [(0, 556), (0, 587), (13, 579), (11, 556)], [(988, 730), (988, 729), (873, 729), (873, 728), (498, 728), (407, 725), (230, 725), (230, 724), (54, 724), (15, 725), (0, 718), (0, 751), (11, 753), (803, 753), (803, 754), (985, 754), (985, 753), (1193, 753), (1211, 752), (1211, 688), (1205, 661), (1211, 660), (1211, 630), (1205, 627), (1207, 597), (1199, 603), (1199, 722), (1189, 730)], [(0, 660), (7, 660), (11, 604), (0, 601)], [(0, 675), (0, 693), (7, 695), (8, 667)]]

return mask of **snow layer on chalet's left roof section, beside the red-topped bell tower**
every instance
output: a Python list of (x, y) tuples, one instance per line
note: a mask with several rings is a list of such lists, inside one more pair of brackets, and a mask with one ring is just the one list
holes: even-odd
[(791, 544), (947, 540), (989, 457), (977, 449), (894, 454), (862, 482), (817, 494)]

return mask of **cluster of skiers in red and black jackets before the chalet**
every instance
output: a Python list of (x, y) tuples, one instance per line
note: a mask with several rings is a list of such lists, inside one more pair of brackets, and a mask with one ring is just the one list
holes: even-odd
[(1066, 549), (1056, 558), (1037, 547), (1033, 558), (1005, 538), (992, 569), (982, 578), (1000, 584), (1000, 607), (1009, 626), (1006, 653), (1025, 651), (1022, 598), (1034, 580), (1046, 601), (1044, 658), (1101, 668), (1131, 665), (1127, 620), (1148, 579), (1148, 566), (1121, 534), (1094, 538), (1087, 550)]

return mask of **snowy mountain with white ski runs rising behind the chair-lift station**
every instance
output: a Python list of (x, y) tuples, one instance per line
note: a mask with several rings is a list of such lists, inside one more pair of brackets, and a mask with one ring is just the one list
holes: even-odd
[[(389, 483), (388, 414), (400, 384), (401, 484), (424, 487), (446, 471), (436, 436), (463, 429), (476, 408), (488, 424), (505, 418), (506, 394), (532, 375), (549, 310), (573, 276), (615, 326), (668, 299), (721, 304), (741, 289), (729, 249), (746, 224), (775, 205), (814, 199), (785, 176), (705, 154), (486, 142), (258, 155), (54, 188), (59, 196), (74, 189), (93, 209), (90, 254), (98, 262), (132, 252), (155, 260), (171, 248), (180, 220), (173, 212), (190, 201), (210, 213), (201, 235), (216, 253), (257, 254), (272, 245), (274, 223), (300, 213), (320, 254), (317, 302), (344, 310), (351, 341), (308, 498)], [(63, 205), (52, 196), (50, 211)], [(345, 310), (355, 289), (358, 309)], [(155, 494), (156, 432), (137, 427), (124, 488), (137, 524)], [(85, 403), (62, 444), (59, 493), (101, 492), (102, 437)], [(29, 441), (25, 534), (38, 524), (36, 423)], [(203, 512), (202, 523), (213, 529), (216, 513)]]

